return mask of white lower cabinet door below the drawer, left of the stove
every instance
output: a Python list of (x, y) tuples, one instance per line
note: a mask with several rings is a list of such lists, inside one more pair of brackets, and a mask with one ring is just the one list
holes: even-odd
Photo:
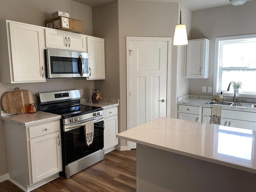
[(62, 170), (60, 132), (29, 140), (32, 184)]

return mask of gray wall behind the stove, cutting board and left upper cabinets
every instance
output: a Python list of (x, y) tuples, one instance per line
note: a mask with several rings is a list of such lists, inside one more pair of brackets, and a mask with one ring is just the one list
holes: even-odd
[[(1, 0), (0, 21), (13, 20), (28, 24), (44, 26), (44, 21), (50, 19), (55, 11), (68, 12), (71, 18), (82, 20), (84, 34), (92, 35), (92, 8), (72, 0)], [(94, 81), (78, 79), (50, 79), (42, 83), (5, 84), (0, 83), (0, 98), (6, 91), (15, 87), (30, 90), (34, 96), (39, 92), (83, 89), (82, 98), (91, 95)], [(0, 105), (2, 110), (2, 105)], [(4, 138), (4, 122), (0, 120), (0, 176), (8, 173), (6, 160), (6, 144)]]

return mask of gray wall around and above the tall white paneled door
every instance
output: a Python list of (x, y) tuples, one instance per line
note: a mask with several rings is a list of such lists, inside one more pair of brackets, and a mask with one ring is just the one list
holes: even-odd
[[(120, 50), (120, 128), (126, 130), (126, 36), (173, 37), (178, 24), (178, 3), (118, 0)], [(177, 63), (177, 46), (172, 46), (172, 67)], [(174, 78), (173, 78), (174, 77)], [(176, 89), (176, 72), (172, 73), (171, 89)], [(176, 93), (172, 92), (176, 101)], [(172, 108), (171, 108), (172, 109)], [(174, 109), (175, 110), (175, 109)], [(121, 140), (121, 146), (126, 141)]]

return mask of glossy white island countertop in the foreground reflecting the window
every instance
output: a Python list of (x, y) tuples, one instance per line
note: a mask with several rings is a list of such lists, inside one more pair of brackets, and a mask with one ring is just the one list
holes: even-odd
[(161, 117), (116, 137), (256, 174), (253, 130)]

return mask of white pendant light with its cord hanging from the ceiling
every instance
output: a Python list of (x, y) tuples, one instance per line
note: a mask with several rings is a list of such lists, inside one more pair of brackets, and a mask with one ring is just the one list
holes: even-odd
[(188, 35), (186, 25), (181, 23), (181, 0), (180, 0), (180, 24), (176, 25), (174, 32), (174, 45), (186, 45), (188, 44)]

